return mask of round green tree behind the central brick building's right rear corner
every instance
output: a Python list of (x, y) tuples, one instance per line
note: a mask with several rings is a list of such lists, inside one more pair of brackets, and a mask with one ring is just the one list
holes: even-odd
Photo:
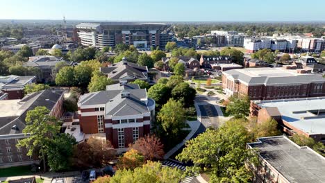
[(157, 83), (149, 88), (148, 96), (155, 100), (156, 104), (163, 105), (170, 98), (170, 89), (162, 83)]

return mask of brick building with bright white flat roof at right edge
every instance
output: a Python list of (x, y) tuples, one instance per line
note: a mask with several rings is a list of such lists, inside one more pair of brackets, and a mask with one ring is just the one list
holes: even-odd
[(250, 112), (258, 123), (273, 118), (283, 132), (325, 142), (325, 97), (251, 101)]

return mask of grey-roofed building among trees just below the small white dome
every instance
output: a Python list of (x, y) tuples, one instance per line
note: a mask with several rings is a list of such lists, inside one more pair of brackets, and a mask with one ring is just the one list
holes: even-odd
[(24, 67), (36, 67), (40, 69), (40, 74), (37, 76), (38, 81), (40, 82), (52, 82), (56, 78), (56, 64), (58, 62), (65, 62), (67, 65), (72, 64), (63, 60), (63, 58), (54, 57), (51, 55), (38, 55), (29, 57), (28, 62), (24, 62)]

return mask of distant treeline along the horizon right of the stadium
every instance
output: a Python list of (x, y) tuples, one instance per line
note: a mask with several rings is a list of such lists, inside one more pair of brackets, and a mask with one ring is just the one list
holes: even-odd
[(325, 33), (324, 24), (176, 24), (174, 31), (178, 37), (204, 35), (211, 30), (235, 30), (240, 33), (272, 35), (274, 33), (313, 33), (320, 37)]

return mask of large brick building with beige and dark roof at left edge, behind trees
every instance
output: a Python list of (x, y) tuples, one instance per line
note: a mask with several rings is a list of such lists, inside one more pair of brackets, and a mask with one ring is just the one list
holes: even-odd
[(29, 134), (26, 127), (26, 114), (35, 107), (45, 106), (51, 116), (58, 119), (63, 114), (63, 91), (43, 90), (26, 95), (18, 100), (0, 100), (0, 167), (22, 166), (38, 163), (37, 158), (26, 155), (26, 148), (18, 148), (19, 139)]

